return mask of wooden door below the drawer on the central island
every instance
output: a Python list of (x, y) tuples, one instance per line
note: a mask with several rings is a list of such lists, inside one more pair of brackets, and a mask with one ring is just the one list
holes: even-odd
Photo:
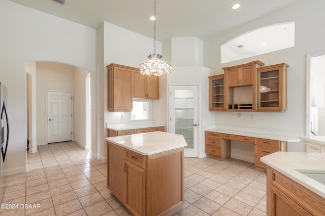
[(125, 206), (135, 215), (145, 214), (145, 169), (125, 160), (126, 163), (126, 185)]

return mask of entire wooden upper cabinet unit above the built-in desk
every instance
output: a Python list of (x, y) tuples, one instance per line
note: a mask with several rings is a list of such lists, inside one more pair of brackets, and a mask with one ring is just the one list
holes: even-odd
[(263, 62), (254, 61), (224, 67), (223, 78), (210, 76), (209, 110), (284, 112), (288, 65), (263, 65)]

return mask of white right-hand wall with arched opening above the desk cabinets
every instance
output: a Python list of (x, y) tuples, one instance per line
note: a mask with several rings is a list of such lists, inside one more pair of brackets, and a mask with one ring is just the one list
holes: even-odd
[[(215, 112), (216, 124), (283, 129), (305, 133), (306, 54), (325, 50), (325, 43), (323, 42), (325, 28), (321, 27), (325, 19), (324, 7), (325, 1), (322, 0), (302, 1), (261, 19), (215, 35), (205, 41), (204, 64), (207, 67), (214, 68), (216, 74), (223, 73), (222, 67), (254, 60), (264, 62), (266, 66), (283, 62), (289, 65), (287, 76), (288, 108), (284, 113), (241, 113), (241, 118), (238, 118), (237, 112)], [(256, 28), (290, 21), (296, 22), (295, 47), (226, 64), (220, 63), (220, 46), (224, 42)], [(250, 119), (251, 114), (255, 115), (255, 120)], [(290, 143), (288, 150), (304, 151), (304, 145), (302, 142), (299, 144)]]

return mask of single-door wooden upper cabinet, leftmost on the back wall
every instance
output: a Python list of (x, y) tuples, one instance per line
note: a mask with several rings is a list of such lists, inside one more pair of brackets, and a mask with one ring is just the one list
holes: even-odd
[(135, 69), (118, 64), (107, 65), (109, 111), (132, 110), (132, 84)]

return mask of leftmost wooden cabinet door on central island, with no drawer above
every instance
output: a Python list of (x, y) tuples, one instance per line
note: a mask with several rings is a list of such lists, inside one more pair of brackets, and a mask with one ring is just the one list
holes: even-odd
[(107, 187), (123, 202), (125, 197), (124, 148), (114, 144), (107, 145), (107, 157)]

